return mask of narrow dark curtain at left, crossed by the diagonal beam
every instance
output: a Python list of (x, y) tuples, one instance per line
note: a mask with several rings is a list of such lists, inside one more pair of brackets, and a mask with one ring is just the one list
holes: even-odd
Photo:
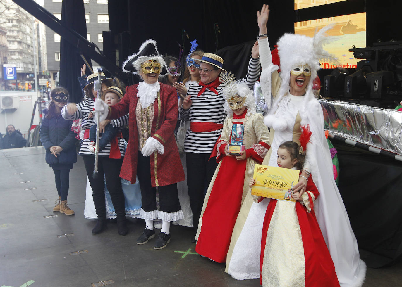
[[(86, 39), (84, 2), (82, 0), (63, 1), (62, 22)], [(80, 56), (80, 51), (63, 37), (60, 41), (60, 55), (60, 86), (68, 90), (70, 102), (79, 103), (82, 100), (82, 92), (77, 78), (81, 75), (80, 68), (84, 65), (84, 61)], [(90, 64), (90, 57), (86, 55), (85, 57)], [(86, 71), (90, 73), (88, 68)]]

